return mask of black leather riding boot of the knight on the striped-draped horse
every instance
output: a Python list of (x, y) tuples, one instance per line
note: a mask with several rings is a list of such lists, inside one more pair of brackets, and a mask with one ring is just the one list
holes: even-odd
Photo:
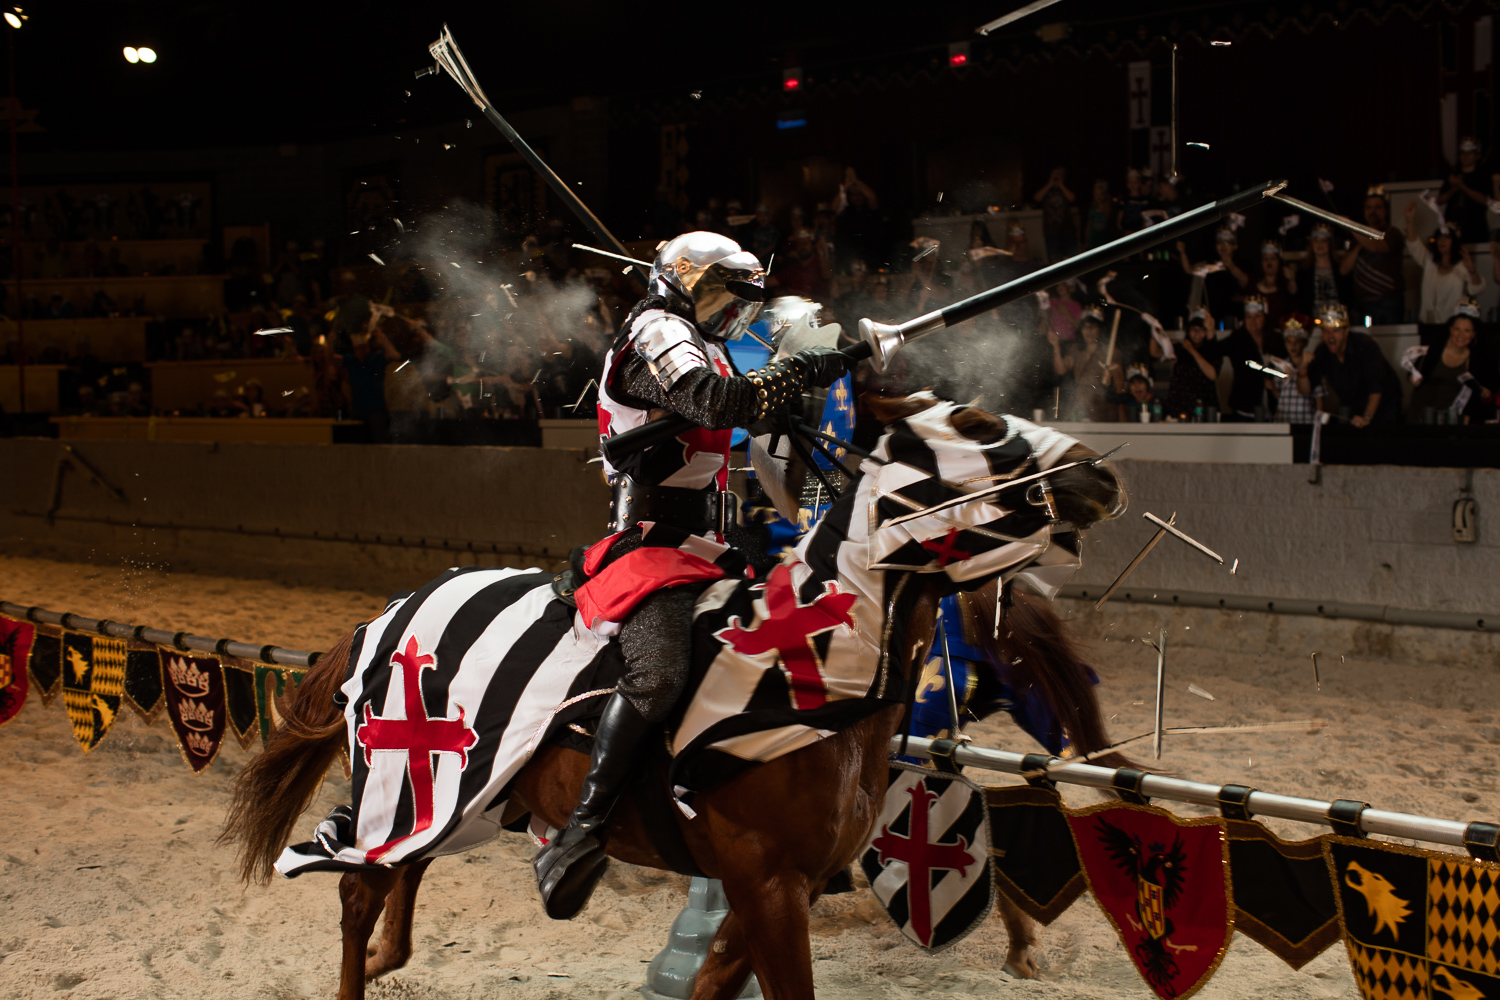
[(542, 906), (554, 921), (578, 915), (609, 867), (602, 828), (634, 771), (636, 748), (651, 724), (622, 696), (604, 706), (594, 733), (594, 759), (567, 829), (531, 861)]

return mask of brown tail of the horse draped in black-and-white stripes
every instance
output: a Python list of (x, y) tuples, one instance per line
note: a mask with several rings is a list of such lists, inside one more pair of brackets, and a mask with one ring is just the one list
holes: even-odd
[(219, 843), (238, 843), (240, 879), (270, 882), (297, 817), (345, 745), (344, 712), (333, 696), (350, 660), (350, 633), (308, 670), (266, 747), (240, 772)]

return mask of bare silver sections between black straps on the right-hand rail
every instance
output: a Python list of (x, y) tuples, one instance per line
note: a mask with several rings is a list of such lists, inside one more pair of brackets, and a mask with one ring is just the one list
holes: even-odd
[[(916, 757), (932, 757), (930, 739), (908, 736), (904, 753)], [(902, 738), (891, 738), (891, 753), (900, 751)], [(1004, 750), (986, 750), (972, 744), (960, 744), (954, 748), (952, 759), (966, 768), (981, 768), (999, 771), (1000, 774), (1018, 775), (1023, 772), (1022, 754)], [(1110, 789), (1114, 778), (1113, 768), (1096, 765), (1068, 763), (1053, 757), (1047, 765), (1047, 778), (1065, 784), (1082, 784), (1090, 789)], [(1142, 795), (1154, 799), (1173, 799), (1176, 802), (1196, 802), (1216, 808), (1220, 804), (1220, 786), (1203, 781), (1185, 781), (1168, 778), (1160, 774), (1148, 774), (1140, 784)], [(1245, 798), (1245, 807), (1256, 816), (1275, 816), (1299, 823), (1328, 825), (1328, 810), (1332, 802), (1318, 799), (1302, 799), (1292, 795), (1275, 795), (1270, 792), (1251, 792)], [(1359, 814), (1359, 828), (1366, 834), (1383, 834), (1386, 837), (1406, 837), (1430, 844), (1446, 844), (1464, 847), (1464, 831), (1467, 823), (1458, 820), (1438, 820), (1430, 816), (1413, 816), (1410, 813), (1390, 813), (1388, 810), (1365, 810)]]

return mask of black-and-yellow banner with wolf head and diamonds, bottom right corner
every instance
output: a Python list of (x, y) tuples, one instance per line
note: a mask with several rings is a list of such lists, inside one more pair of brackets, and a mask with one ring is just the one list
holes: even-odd
[(1500, 865), (1348, 837), (1323, 852), (1362, 997), (1500, 997)]

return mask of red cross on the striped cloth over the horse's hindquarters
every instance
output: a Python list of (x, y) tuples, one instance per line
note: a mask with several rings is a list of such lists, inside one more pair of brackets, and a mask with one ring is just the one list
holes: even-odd
[(435, 801), (435, 772), (432, 754), (458, 754), (459, 771), (468, 766), (468, 751), (478, 742), (478, 733), (464, 724), (464, 709), (459, 708), (458, 718), (429, 718), (428, 706), (422, 700), (422, 672), (436, 667), (438, 660), (432, 654), (420, 652), (417, 637), (406, 639), (406, 649), (390, 658), (393, 667), (400, 670), (400, 682), (405, 691), (406, 718), (382, 718), (370, 712), (364, 703), (364, 721), (354, 732), (354, 739), (364, 748), (364, 766), (370, 765), (372, 754), (380, 751), (406, 754), (406, 775), (411, 778), (412, 825), (410, 834), (402, 834), (364, 855), (368, 864), (378, 864), (400, 841), (416, 837), (432, 826)]

